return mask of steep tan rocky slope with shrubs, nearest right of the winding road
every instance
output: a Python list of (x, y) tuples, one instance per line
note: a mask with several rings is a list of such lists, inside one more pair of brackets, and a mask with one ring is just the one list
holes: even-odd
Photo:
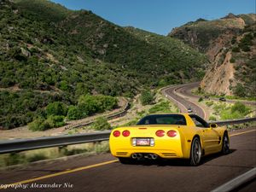
[(203, 90), (218, 95), (256, 96), (255, 29), (256, 25), (247, 26), (216, 55), (201, 81)]

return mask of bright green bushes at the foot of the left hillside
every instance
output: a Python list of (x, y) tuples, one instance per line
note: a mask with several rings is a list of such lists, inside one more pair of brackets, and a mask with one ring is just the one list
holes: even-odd
[(28, 128), (32, 131), (44, 131), (53, 127), (60, 127), (65, 125), (65, 119), (81, 119), (95, 113), (112, 110), (117, 105), (118, 100), (115, 97), (100, 95), (80, 96), (76, 106), (67, 107), (63, 102), (52, 102), (42, 111), (41, 115), (38, 115), (32, 123), (28, 124)]

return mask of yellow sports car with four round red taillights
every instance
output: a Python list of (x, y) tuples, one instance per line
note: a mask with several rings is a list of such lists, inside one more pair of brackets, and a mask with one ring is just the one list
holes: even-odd
[(188, 159), (191, 166), (198, 166), (204, 155), (230, 152), (225, 127), (208, 124), (189, 113), (151, 114), (137, 125), (113, 129), (109, 145), (121, 163), (182, 158)]

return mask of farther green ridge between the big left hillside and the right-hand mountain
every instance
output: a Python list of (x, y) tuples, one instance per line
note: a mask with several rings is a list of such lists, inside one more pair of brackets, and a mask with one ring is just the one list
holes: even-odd
[[(147, 44), (157, 46), (166, 51), (166, 54), (172, 57), (174, 61), (172, 66), (178, 72), (174, 73), (175, 75), (180, 76), (182, 79), (190, 77), (192, 81), (203, 77), (208, 65), (207, 57), (199, 54), (195, 49), (191, 49), (190, 46), (182, 41), (153, 32), (143, 31), (132, 26), (125, 27), (125, 31), (131, 33), (137, 39), (147, 42)], [(170, 77), (169, 82), (171, 79), (175, 79), (175, 77)]]

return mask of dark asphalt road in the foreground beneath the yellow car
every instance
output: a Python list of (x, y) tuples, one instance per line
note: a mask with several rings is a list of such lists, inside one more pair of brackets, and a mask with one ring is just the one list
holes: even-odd
[[(0, 185), (21, 182), (27, 189), (2, 190), (33, 192), (211, 191), (256, 165), (255, 127), (233, 131), (230, 135), (231, 153), (207, 156), (201, 166), (186, 166), (183, 160), (143, 161), (136, 165), (122, 165), (111, 154), (100, 154), (1, 171)], [(65, 183), (66, 188), (63, 187)], [(51, 188), (46, 187), (47, 184), (51, 184)], [(60, 184), (61, 187), (57, 186)], [(253, 191), (254, 186), (255, 181), (248, 184), (244, 188), (246, 190), (239, 191)]]

